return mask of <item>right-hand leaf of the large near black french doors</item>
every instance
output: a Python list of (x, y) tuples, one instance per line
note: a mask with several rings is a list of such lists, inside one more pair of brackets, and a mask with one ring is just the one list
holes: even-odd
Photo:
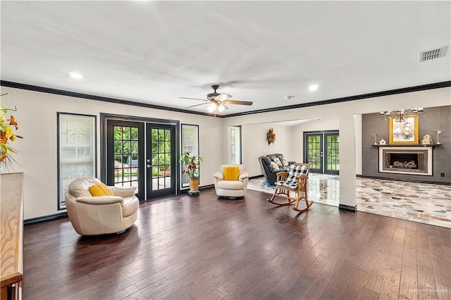
[(175, 194), (175, 125), (147, 123), (147, 199)]

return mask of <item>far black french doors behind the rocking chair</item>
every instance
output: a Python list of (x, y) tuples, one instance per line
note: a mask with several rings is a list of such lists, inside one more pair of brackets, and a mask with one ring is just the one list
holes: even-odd
[(305, 132), (304, 161), (314, 173), (338, 174), (340, 171), (338, 131)]

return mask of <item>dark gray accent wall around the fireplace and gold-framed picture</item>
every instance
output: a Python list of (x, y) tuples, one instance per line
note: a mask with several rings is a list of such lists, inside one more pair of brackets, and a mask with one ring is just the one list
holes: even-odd
[[(432, 135), (433, 142), (437, 142), (437, 133), (433, 130), (443, 130), (443, 133), (439, 137), (441, 146), (435, 146), (433, 149), (433, 176), (379, 173), (378, 147), (373, 146), (374, 137), (372, 134), (378, 134), (376, 137), (377, 142), (383, 137), (388, 143), (388, 121), (378, 120), (379, 113), (362, 115), (363, 176), (451, 184), (451, 106), (424, 108), (424, 111), (426, 111), (426, 115), (419, 118), (420, 142), (421, 138), (426, 134)], [(441, 173), (444, 173), (445, 177), (441, 177)]]

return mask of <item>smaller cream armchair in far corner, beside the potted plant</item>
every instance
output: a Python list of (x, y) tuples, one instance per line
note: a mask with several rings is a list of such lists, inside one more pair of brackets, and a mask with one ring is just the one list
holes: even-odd
[[(237, 168), (237, 175), (235, 178), (228, 178), (224, 176), (225, 168)], [(229, 169), (230, 170), (230, 169)], [(246, 172), (245, 165), (221, 165), (218, 172), (213, 175), (214, 189), (218, 196), (237, 198), (245, 196), (247, 189), (247, 182), (249, 181), (249, 174)]]

